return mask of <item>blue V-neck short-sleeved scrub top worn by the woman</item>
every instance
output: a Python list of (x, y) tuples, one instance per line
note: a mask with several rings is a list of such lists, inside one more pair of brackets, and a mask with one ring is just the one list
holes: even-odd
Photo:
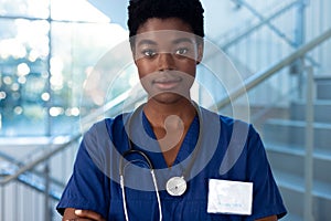
[[(216, 118), (205, 120), (206, 124), (201, 123), (201, 116), (194, 118), (172, 168), (168, 168), (162, 154), (152, 148), (153, 140), (134, 143), (132, 148), (143, 151), (156, 168), (163, 220), (256, 220), (273, 214), (284, 217), (287, 211), (256, 130), (243, 122), (203, 108), (201, 112), (203, 116)], [(124, 114), (107, 118), (95, 124), (84, 135), (73, 175), (56, 207), (61, 214), (65, 208), (76, 208), (98, 212), (106, 220), (125, 220), (118, 171), (119, 158), (129, 149), (128, 127), (125, 125), (128, 125), (130, 117), (130, 114)], [(138, 139), (143, 137), (139, 131), (156, 138), (143, 114), (141, 119), (145, 129), (131, 127), (134, 129), (130, 133), (137, 135)], [(247, 133), (244, 133), (245, 129)], [(204, 139), (200, 140), (201, 137)], [(215, 137), (216, 145), (211, 140)], [(243, 137), (245, 143), (237, 141)], [(239, 154), (229, 151), (232, 149), (239, 149)], [(132, 161), (126, 164), (125, 168), (129, 220), (159, 220), (158, 201), (147, 164), (139, 155), (131, 155), (128, 160)], [(226, 170), (224, 164), (227, 164)], [(183, 173), (188, 173), (186, 191), (180, 197), (170, 196), (164, 190), (167, 180)], [(253, 182), (252, 215), (207, 213), (210, 179)]]

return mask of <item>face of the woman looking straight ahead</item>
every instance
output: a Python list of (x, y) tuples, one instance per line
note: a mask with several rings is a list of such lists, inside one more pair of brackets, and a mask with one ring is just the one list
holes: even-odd
[(150, 99), (160, 103), (190, 99), (203, 51), (196, 40), (190, 25), (177, 18), (152, 18), (139, 27), (132, 52)]

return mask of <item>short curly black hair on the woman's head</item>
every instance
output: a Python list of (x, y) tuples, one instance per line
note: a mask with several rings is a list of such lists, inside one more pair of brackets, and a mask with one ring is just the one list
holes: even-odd
[(192, 32), (204, 36), (203, 8), (200, 0), (130, 0), (128, 7), (129, 36), (148, 19), (179, 18), (191, 25)]

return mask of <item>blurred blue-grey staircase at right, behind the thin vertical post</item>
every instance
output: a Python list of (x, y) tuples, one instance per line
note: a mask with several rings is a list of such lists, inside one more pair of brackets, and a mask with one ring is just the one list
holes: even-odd
[[(316, 221), (331, 217), (331, 75), (314, 78), (312, 215)], [(289, 118), (268, 119), (263, 138), (268, 158), (289, 214), (285, 220), (303, 220), (306, 162), (306, 102), (293, 101)], [(327, 209), (329, 208), (329, 209)]]

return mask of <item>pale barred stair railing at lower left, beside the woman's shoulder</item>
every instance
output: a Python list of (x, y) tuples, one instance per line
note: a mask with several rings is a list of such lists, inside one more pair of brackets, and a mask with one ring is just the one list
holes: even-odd
[[(120, 106), (127, 99), (129, 93), (125, 92), (119, 95), (117, 98), (110, 101), (109, 103), (105, 104), (103, 107), (95, 109), (92, 114), (83, 117), (81, 119), (82, 125), (82, 133), (86, 131), (89, 126), (98, 120), (99, 116), (103, 116), (105, 113), (110, 115), (117, 115), (120, 113)], [(138, 102), (143, 99), (145, 96), (138, 96)], [(136, 101), (137, 102), (137, 101)], [(127, 103), (126, 107), (130, 108), (134, 106), (134, 103)], [(70, 161), (66, 162), (67, 167), (71, 169), (71, 165), (73, 164), (73, 159), (76, 154), (76, 148), (78, 147), (78, 141), (82, 137), (82, 133), (76, 135), (72, 135), (71, 137), (53, 137), (49, 138), (49, 145), (40, 145), (38, 149), (41, 149), (38, 157), (34, 157), (33, 160), (30, 160), (28, 164), (23, 164), (22, 161), (17, 160), (10, 155), (0, 151), (0, 159), (4, 159), (8, 164), (7, 167), (0, 168), (0, 199), (1, 199), (1, 207), (0, 207), (0, 220), (60, 220), (61, 218), (58, 214), (54, 213), (54, 208), (56, 201), (60, 200), (61, 193), (64, 188), (64, 183), (67, 181), (68, 172), (61, 172), (57, 177), (53, 177), (52, 175), (54, 170), (58, 170), (57, 165), (60, 161)], [(56, 140), (56, 141), (55, 141)], [(55, 141), (55, 143), (54, 143)], [(70, 151), (65, 154), (64, 151)], [(34, 152), (36, 154), (36, 152)], [(61, 156), (61, 157), (60, 157)], [(56, 159), (54, 159), (56, 158)], [(63, 159), (67, 158), (67, 159)], [(64, 162), (65, 164), (65, 162)], [(71, 165), (70, 165), (71, 164)], [(63, 165), (62, 165), (63, 166)], [(51, 171), (52, 170), (52, 171)], [(61, 177), (61, 178), (60, 178)], [(29, 187), (31, 190), (36, 190), (31, 194), (33, 197), (25, 197), (22, 196), (21, 199), (18, 193), (20, 192), (18, 189)], [(26, 189), (26, 188), (25, 188)], [(26, 189), (26, 190), (29, 190)], [(8, 192), (15, 192), (13, 198), (8, 197)], [(10, 193), (9, 193), (10, 194)], [(11, 194), (12, 196), (12, 194)], [(31, 213), (25, 214), (22, 217), (18, 214), (13, 210), (8, 210), (9, 202), (17, 203), (18, 201), (24, 201), (22, 207), (29, 208), (31, 206), (31, 198), (35, 198), (35, 201), (43, 201), (43, 204), (39, 204), (39, 208), (43, 208), (45, 214), (35, 213), (35, 210), (31, 210)], [(29, 202), (25, 202), (25, 201)], [(38, 204), (33, 202), (34, 204)], [(28, 204), (28, 206), (25, 206)], [(13, 208), (13, 207), (11, 207)], [(19, 209), (19, 208), (18, 208)]]

